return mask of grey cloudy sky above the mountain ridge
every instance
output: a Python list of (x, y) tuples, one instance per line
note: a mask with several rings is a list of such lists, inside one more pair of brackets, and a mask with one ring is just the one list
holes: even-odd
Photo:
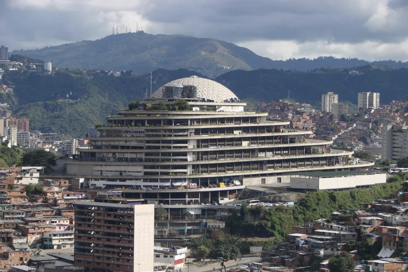
[(0, 44), (13, 49), (119, 31), (211, 37), (272, 59), (408, 61), (408, 0), (0, 0)]

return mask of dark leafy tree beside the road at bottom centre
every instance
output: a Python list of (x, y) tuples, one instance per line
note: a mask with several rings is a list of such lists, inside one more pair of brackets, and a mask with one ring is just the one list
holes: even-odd
[(220, 260), (221, 268), (224, 268), (224, 272), (226, 272), (225, 262), (242, 257), (239, 250), (241, 244), (241, 237), (220, 233), (213, 243), (213, 249), (210, 251), (209, 257)]

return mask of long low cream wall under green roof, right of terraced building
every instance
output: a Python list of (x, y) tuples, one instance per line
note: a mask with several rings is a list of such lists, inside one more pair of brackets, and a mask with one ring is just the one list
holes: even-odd
[(299, 176), (290, 178), (291, 188), (308, 190), (347, 189), (380, 183), (386, 183), (386, 173), (332, 178), (307, 178)]

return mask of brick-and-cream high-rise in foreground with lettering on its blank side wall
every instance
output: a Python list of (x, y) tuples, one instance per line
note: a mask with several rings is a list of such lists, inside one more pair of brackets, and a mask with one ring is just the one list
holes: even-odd
[(95, 272), (153, 272), (154, 205), (75, 201), (75, 265)]

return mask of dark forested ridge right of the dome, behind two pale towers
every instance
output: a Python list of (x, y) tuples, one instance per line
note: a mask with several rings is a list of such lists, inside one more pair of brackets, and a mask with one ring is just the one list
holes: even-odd
[[(401, 100), (408, 91), (408, 69), (378, 69), (375, 66), (355, 68), (363, 75), (349, 75), (347, 69), (318, 69), (311, 72), (284, 70), (232, 71), (215, 80), (245, 101), (270, 102), (288, 96), (296, 101), (315, 103), (326, 92), (339, 94), (341, 101), (357, 104), (358, 92), (379, 92), (381, 103)], [(355, 109), (351, 109), (352, 111)]]

